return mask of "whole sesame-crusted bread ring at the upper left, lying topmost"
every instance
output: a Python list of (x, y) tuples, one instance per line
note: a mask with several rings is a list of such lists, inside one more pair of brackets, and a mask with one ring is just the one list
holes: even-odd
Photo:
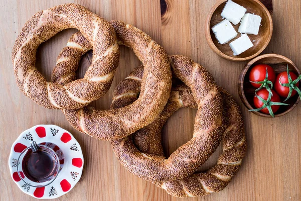
[[(78, 29), (92, 44), (92, 64), (82, 79), (65, 85), (48, 82), (35, 66), (37, 48), (68, 28)], [(65, 52), (76, 55), (82, 49), (71, 40)], [(68, 59), (62, 54), (58, 63), (64, 65)], [(78, 109), (107, 92), (118, 65), (119, 50), (114, 29), (107, 21), (83, 6), (64, 4), (38, 12), (24, 25), (13, 47), (12, 60), (17, 85), (37, 104), (49, 109)]]

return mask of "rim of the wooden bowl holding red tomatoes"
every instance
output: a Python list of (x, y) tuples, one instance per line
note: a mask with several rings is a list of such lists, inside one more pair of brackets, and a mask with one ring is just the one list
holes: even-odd
[[(242, 103), (245, 105), (245, 107), (247, 109), (249, 109), (249, 110), (253, 110), (254, 108), (251, 106), (251, 104), (248, 102), (248, 100), (247, 100), (247, 98), (245, 96), (244, 87), (243, 87), (243, 84), (244, 84), (243, 80), (244, 80), (245, 75), (246, 75), (247, 71), (249, 70), (249, 68), (256, 61), (258, 61), (260, 59), (263, 59), (263, 58), (268, 58), (268, 57), (276, 57), (276, 58), (283, 59), (285, 62), (290, 63), (296, 69), (296, 71), (298, 72), (299, 75), (301, 74), (301, 71), (299, 70), (299, 68), (296, 66), (296, 64), (293, 61), (291, 61), (287, 57), (279, 55), (279, 54), (263, 54), (263, 55), (260, 55), (260, 56), (258, 56), (256, 58), (252, 59), (251, 61), (249, 61), (244, 66), (244, 68), (242, 69), (242, 71), (241, 71), (241, 73), (239, 75), (239, 78), (238, 78), (238, 94), (239, 94), (239, 97), (240, 97)], [(276, 117), (281, 117), (283, 115), (286, 115), (287, 113), (289, 113), (290, 111), (292, 111), (297, 106), (297, 104), (299, 103), (299, 101), (300, 101), (300, 97), (297, 98), (296, 102), (294, 103), (294, 105), (290, 109), (288, 109), (287, 111), (285, 111), (283, 113), (275, 115), (275, 118)], [(250, 112), (254, 113), (255, 115), (261, 116), (261, 117), (272, 118), (270, 115), (263, 114), (263, 113), (260, 113), (260, 112), (256, 112), (256, 111), (250, 111)]]

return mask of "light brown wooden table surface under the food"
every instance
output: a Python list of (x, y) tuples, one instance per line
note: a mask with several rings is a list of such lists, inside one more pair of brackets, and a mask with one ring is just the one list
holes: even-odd
[[(152, 3), (150, 3), (152, 2)], [(244, 115), (248, 151), (231, 183), (221, 192), (187, 200), (301, 200), (301, 105), (284, 117), (261, 118), (247, 111), (239, 99), (237, 79), (246, 62), (217, 56), (207, 45), (204, 23), (217, 0), (168, 0), (161, 13), (160, 1), (149, 0), (1, 0), (0, 34), (0, 200), (34, 200), (24, 194), (9, 174), (11, 145), (21, 132), (37, 124), (55, 124), (73, 133), (85, 158), (79, 183), (58, 200), (181, 200), (164, 189), (127, 172), (117, 161), (110, 142), (99, 141), (73, 129), (59, 110), (42, 108), (21, 93), (15, 83), (11, 52), (26, 21), (36, 12), (63, 3), (78, 3), (106, 20), (123, 20), (161, 44), (169, 54), (183, 54), (207, 67), (216, 82), (229, 90)], [(301, 67), (300, 0), (273, 1), (274, 32), (264, 53), (278, 53)], [(162, 15), (163, 14), (163, 15)], [(37, 67), (50, 79), (56, 57), (76, 30), (57, 34), (38, 49)], [(108, 109), (116, 84), (140, 64), (133, 52), (120, 48), (119, 67), (108, 93), (92, 105)], [(90, 65), (84, 56), (78, 76)], [(192, 137), (195, 111), (182, 109), (164, 127), (167, 154)], [(201, 170), (213, 166), (218, 151)], [(182, 199), (186, 200), (186, 199)]]

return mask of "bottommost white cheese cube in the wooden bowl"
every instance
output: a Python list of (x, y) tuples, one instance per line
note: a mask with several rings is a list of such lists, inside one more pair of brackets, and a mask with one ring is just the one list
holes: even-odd
[(229, 45), (234, 52), (234, 56), (240, 55), (254, 46), (247, 34), (242, 34), (238, 39)]

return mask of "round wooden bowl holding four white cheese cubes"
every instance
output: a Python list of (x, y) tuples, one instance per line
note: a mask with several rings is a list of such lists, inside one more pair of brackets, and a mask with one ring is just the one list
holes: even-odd
[(257, 0), (232, 0), (232, 1), (246, 8), (247, 13), (259, 15), (262, 18), (258, 35), (248, 34), (251, 41), (254, 41), (252, 42), (254, 46), (240, 55), (237, 56), (233, 55), (233, 51), (230, 48), (229, 43), (231, 43), (233, 40), (240, 37), (240, 33), (238, 32), (240, 23), (238, 23), (237, 25), (233, 25), (231, 23), (238, 34), (235, 39), (232, 39), (227, 44), (224, 45), (219, 44), (218, 40), (215, 38), (215, 35), (212, 32), (211, 28), (214, 25), (224, 20), (222, 19), (221, 13), (226, 5), (227, 0), (222, 0), (211, 9), (205, 23), (205, 36), (210, 48), (219, 56), (231, 61), (250, 60), (258, 56), (270, 42), (270, 39), (272, 37), (272, 32), (273, 32), (272, 18), (270, 13), (266, 9), (266, 7)]

